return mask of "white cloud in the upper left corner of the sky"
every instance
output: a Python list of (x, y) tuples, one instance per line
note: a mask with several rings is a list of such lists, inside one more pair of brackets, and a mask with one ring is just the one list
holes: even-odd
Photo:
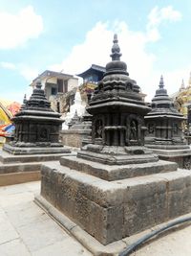
[(17, 14), (0, 12), (0, 49), (11, 49), (23, 45), (31, 38), (42, 33), (43, 20), (32, 6), (22, 9)]

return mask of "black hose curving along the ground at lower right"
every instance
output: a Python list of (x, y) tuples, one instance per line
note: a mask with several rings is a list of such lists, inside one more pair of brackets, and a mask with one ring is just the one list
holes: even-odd
[(166, 231), (167, 229), (175, 226), (175, 225), (178, 225), (178, 224), (181, 224), (183, 222), (186, 222), (186, 221), (191, 221), (191, 217), (187, 217), (187, 218), (182, 218), (182, 219), (179, 219), (178, 221), (172, 221), (170, 222), (169, 224), (157, 229), (157, 230), (154, 230), (152, 232), (150, 232), (149, 234), (141, 237), (140, 239), (138, 239), (137, 242), (129, 245), (127, 248), (125, 248), (122, 252), (120, 252), (118, 254), (118, 256), (128, 256), (130, 255), (131, 252), (135, 251), (136, 248), (141, 245), (141, 244), (144, 244), (146, 241), (148, 241), (150, 238), (156, 236), (156, 235), (159, 235), (159, 233), (163, 232), (163, 231)]

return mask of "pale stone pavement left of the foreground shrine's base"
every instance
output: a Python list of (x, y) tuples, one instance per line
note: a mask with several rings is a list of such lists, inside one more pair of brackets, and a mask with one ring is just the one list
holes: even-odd
[(40, 182), (0, 187), (0, 256), (91, 256), (34, 202)]

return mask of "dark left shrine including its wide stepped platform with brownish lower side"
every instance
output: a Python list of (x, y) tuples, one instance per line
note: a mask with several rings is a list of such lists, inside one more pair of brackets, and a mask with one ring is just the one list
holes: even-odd
[(71, 153), (58, 141), (63, 121), (51, 108), (40, 82), (29, 101), (25, 96), (12, 121), (13, 140), (0, 151), (0, 186), (38, 180), (44, 161), (55, 161)]

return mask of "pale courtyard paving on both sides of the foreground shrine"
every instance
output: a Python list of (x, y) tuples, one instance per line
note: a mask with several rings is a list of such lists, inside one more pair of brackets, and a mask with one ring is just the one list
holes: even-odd
[[(40, 181), (0, 187), (0, 255), (93, 255), (34, 203), (39, 193)], [(186, 223), (130, 255), (190, 256), (190, 237), (191, 225)]]

